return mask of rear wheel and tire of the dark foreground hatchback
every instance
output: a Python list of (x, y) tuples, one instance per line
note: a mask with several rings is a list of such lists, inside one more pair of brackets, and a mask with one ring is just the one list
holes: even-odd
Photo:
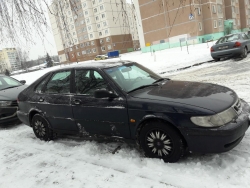
[(55, 138), (55, 134), (49, 127), (48, 121), (40, 114), (35, 114), (31, 125), (37, 138), (44, 141), (50, 141)]

